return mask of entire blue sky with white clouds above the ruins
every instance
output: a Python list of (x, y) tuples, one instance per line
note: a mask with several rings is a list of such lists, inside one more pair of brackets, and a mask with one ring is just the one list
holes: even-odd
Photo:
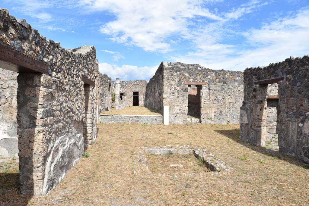
[(162, 61), (243, 71), (309, 55), (309, 0), (2, 0), (64, 48), (94, 45), (113, 80), (148, 80)]

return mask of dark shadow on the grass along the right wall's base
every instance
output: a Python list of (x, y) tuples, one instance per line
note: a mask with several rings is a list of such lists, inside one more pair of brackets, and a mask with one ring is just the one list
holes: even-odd
[(304, 163), (301, 160), (295, 159), (294, 157), (290, 157), (288, 155), (283, 155), (283, 154), (280, 154), (278, 151), (270, 150), (270, 149), (267, 149), (267, 148), (264, 148), (264, 147), (261, 147), (261, 146), (255, 146), (250, 142), (246, 142), (246, 141), (241, 140), (239, 138), (239, 129), (238, 130), (236, 130), (236, 129), (235, 130), (214, 130), (214, 131), (219, 133), (219, 134), (226, 136), (227, 138), (232, 139), (233, 141), (235, 141), (239, 144), (242, 144), (243, 146), (248, 147), (251, 150), (259, 152), (263, 155), (268, 155), (268, 156), (271, 156), (271, 157), (282, 159), (282, 160), (284, 160), (288, 163), (294, 164), (298, 167), (304, 167), (306, 169), (309, 169), (309, 165), (307, 165), (306, 163)]

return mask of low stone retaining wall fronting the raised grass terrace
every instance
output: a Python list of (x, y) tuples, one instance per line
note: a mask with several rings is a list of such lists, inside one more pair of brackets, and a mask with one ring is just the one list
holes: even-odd
[(163, 118), (160, 115), (108, 115), (100, 114), (99, 122), (112, 123), (137, 123), (137, 124), (162, 124)]

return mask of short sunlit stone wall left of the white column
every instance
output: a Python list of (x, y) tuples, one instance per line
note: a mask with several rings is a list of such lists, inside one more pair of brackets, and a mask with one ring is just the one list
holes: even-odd
[(99, 88), (99, 112), (108, 111), (112, 109), (112, 93), (111, 84), (112, 78), (108, 77), (107, 74), (99, 73), (98, 78)]

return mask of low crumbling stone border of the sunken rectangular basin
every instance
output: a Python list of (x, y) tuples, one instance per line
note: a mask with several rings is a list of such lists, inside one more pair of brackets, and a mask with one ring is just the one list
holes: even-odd
[[(193, 147), (190, 145), (177, 145), (177, 146), (155, 146), (155, 147), (140, 147), (137, 150), (137, 156), (135, 159), (136, 168), (134, 168), (134, 174), (147, 173), (150, 174), (147, 164), (146, 153), (154, 155), (172, 155), (172, 154), (190, 154), (197, 159), (202, 159), (205, 166), (212, 172), (231, 171), (231, 167), (226, 165), (221, 159), (216, 158), (209, 151), (202, 149), (201, 146)], [(196, 174), (190, 174), (196, 175)]]

